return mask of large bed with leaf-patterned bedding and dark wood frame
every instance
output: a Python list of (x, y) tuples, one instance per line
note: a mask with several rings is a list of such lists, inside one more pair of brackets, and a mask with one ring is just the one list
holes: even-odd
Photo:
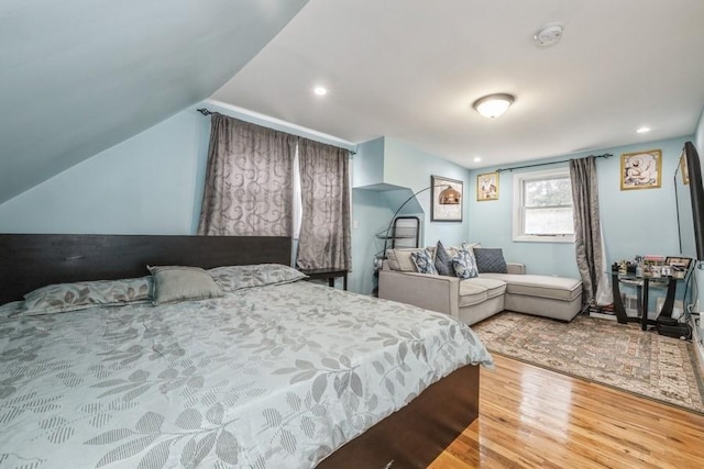
[(0, 304), (156, 281), (147, 265), (210, 269), (222, 290), (1, 306), (2, 467), (426, 467), (479, 415), (492, 360), (469, 327), (304, 281), (288, 238), (0, 235)]

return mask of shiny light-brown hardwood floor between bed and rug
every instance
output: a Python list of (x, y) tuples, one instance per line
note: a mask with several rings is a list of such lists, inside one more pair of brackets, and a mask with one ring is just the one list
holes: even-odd
[(480, 418), (430, 466), (704, 468), (704, 416), (494, 355)]

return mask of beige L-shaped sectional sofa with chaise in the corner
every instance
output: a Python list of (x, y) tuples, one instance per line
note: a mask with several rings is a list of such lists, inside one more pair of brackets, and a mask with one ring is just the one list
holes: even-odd
[[(378, 275), (378, 297), (438, 311), (472, 325), (504, 310), (572, 321), (582, 310), (582, 281), (527, 275), (506, 263), (506, 273), (475, 278), (419, 273), (410, 255), (422, 248), (389, 249)], [(432, 248), (428, 248), (432, 249)]]

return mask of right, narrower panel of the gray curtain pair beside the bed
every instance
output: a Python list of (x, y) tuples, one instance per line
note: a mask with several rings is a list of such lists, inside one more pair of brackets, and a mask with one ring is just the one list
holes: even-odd
[(350, 269), (350, 155), (301, 138), (298, 143), (301, 224), (297, 266)]

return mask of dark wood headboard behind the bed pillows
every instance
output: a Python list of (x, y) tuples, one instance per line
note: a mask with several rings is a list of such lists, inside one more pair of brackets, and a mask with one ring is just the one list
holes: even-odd
[(279, 236), (0, 234), (0, 304), (51, 283), (145, 276), (147, 264), (288, 266), (290, 249)]

